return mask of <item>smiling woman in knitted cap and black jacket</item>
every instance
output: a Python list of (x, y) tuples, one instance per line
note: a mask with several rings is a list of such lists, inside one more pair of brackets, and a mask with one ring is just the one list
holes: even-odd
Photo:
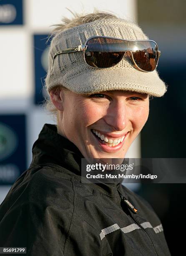
[[(123, 40), (124, 39), (124, 40)], [(64, 19), (50, 44), (45, 124), (0, 207), (0, 246), (28, 255), (170, 255), (156, 213), (121, 184), (82, 183), (81, 158), (123, 159), (166, 86), (160, 51), (109, 13)]]

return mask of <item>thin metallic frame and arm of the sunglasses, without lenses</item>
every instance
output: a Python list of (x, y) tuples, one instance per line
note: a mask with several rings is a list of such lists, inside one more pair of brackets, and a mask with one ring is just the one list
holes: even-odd
[[(53, 56), (53, 60), (52, 60), (52, 65), (51, 65), (50, 72), (52, 71), (52, 68), (53, 68), (53, 63), (54, 63), (55, 56), (57, 56), (57, 55), (59, 55), (59, 54), (73, 53), (73, 52), (76, 52), (76, 51), (83, 51), (83, 56), (84, 56), (84, 61), (85, 61), (85, 63), (86, 63), (89, 67), (92, 67), (92, 66), (90, 66), (90, 65), (86, 62), (86, 60), (85, 60), (85, 51), (87, 50), (87, 47), (88, 47), (86, 44), (87, 44), (87, 42), (88, 42), (90, 39), (92, 39), (92, 38), (111, 38), (111, 39), (118, 39), (118, 40), (123, 40), (123, 41), (133, 41), (133, 42), (134, 42), (134, 41), (151, 41), (151, 42), (153, 42), (153, 43), (156, 44), (155, 41), (150, 40), (150, 39), (128, 40), (128, 39), (116, 38), (116, 37), (110, 37), (110, 36), (91, 36), (90, 38), (88, 38), (88, 39), (86, 40), (85, 44), (78, 45), (78, 46), (75, 46), (75, 47), (72, 47), (72, 48), (68, 48), (68, 49), (61, 50), (61, 51), (56, 52), (56, 53), (54, 54), (54, 56)], [(157, 44), (156, 44), (156, 46), (157, 46), (157, 50), (156, 50), (156, 58), (157, 58), (156, 67), (157, 67), (157, 66), (158, 66), (158, 60), (159, 60), (159, 57), (160, 57), (160, 55), (161, 55), (161, 51), (158, 50), (158, 45), (157, 45)], [(127, 52), (127, 51), (130, 51), (130, 52), (131, 52), (133, 63), (135, 64), (135, 66), (136, 66), (139, 70), (141, 70), (141, 71), (143, 71), (143, 72), (153, 72), (153, 71), (156, 69), (156, 67), (155, 67), (153, 70), (151, 70), (151, 71), (146, 71), (146, 70), (141, 69), (141, 68), (138, 67), (138, 65), (136, 64), (136, 61), (134, 60), (132, 51), (131, 51), (131, 50), (126, 50), (126, 52)], [(125, 56), (126, 52), (124, 53), (123, 57)], [(123, 59), (123, 57), (122, 57), (122, 59)], [(122, 59), (121, 59), (120, 61), (122, 61)], [(120, 62), (120, 61), (119, 61), (119, 62)], [(118, 63), (119, 63), (119, 62), (118, 62)], [(111, 67), (116, 66), (118, 63), (116, 63), (115, 65), (113, 65), (113, 66), (111, 66)], [(104, 68), (92, 67), (92, 68), (95, 68), (95, 69), (109, 69), (109, 68), (111, 68), (111, 67), (104, 67)]]

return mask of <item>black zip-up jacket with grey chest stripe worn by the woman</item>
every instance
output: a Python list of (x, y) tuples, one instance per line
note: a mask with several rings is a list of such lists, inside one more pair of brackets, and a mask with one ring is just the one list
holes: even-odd
[(151, 206), (121, 184), (82, 184), (81, 157), (55, 125), (43, 126), (29, 169), (0, 206), (0, 247), (32, 256), (170, 255)]

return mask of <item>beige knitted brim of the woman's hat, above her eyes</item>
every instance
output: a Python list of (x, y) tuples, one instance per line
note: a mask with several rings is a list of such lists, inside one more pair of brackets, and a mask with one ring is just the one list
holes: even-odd
[(161, 97), (166, 92), (166, 84), (158, 72), (142, 72), (137, 69), (89, 69), (85, 73), (63, 79), (63, 86), (78, 94), (91, 94), (111, 90), (146, 93)]

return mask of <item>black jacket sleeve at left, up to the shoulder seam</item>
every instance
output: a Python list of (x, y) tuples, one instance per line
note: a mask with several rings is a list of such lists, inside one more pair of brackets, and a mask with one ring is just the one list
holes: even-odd
[(27, 247), (29, 255), (36, 255), (42, 244), (42, 255), (60, 255), (73, 218), (73, 197), (68, 176), (49, 166), (26, 170), (0, 206), (1, 246)]

